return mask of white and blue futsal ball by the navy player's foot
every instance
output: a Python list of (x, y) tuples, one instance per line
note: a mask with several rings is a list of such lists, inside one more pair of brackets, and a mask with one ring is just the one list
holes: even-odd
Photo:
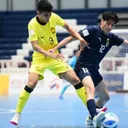
[(101, 128), (117, 128), (119, 119), (114, 113), (106, 113), (102, 121)]

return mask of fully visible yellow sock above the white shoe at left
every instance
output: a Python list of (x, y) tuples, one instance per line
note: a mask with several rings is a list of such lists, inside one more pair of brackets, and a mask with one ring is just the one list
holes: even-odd
[(30, 96), (30, 93), (28, 93), (27, 91), (23, 90), (18, 98), (18, 103), (17, 103), (17, 107), (16, 107), (16, 112), (17, 113), (21, 113), (26, 102), (28, 101), (28, 98)]

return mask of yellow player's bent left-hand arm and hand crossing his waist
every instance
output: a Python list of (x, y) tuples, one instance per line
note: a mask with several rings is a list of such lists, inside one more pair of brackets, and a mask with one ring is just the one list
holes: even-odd
[(49, 51), (44, 50), (43, 48), (41, 48), (38, 45), (38, 41), (31, 41), (32, 47), (34, 49), (34, 51), (39, 52), (41, 54), (43, 54), (44, 56), (50, 56), (54, 59), (63, 59), (64, 56), (62, 54), (55, 54), (55, 53), (50, 53)]

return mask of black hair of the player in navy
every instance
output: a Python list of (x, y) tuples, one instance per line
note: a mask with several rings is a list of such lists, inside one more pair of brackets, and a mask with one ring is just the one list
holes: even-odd
[(104, 12), (102, 15), (102, 19), (104, 21), (113, 20), (115, 24), (119, 21), (117, 14), (114, 12)]

